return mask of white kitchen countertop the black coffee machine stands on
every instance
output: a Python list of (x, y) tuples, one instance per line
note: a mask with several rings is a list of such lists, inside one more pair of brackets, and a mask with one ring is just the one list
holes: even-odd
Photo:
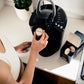
[[(33, 36), (28, 23), (28, 20), (21, 21), (16, 16), (13, 7), (5, 6), (3, 10), (0, 11), (0, 35), (5, 35), (13, 46), (18, 45), (24, 41), (32, 41)], [(84, 33), (84, 20), (68, 17), (62, 45), (65, 43), (68, 34), (70, 32), (74, 33), (76, 30)], [(70, 63), (67, 63), (62, 58), (60, 58), (60, 50), (50, 57), (42, 57), (39, 55), (37, 58), (36, 67), (54, 75), (75, 81), (79, 68), (81, 53), (82, 52), (80, 52), (76, 58), (71, 60)], [(18, 55), (23, 62), (27, 63), (29, 52)]]

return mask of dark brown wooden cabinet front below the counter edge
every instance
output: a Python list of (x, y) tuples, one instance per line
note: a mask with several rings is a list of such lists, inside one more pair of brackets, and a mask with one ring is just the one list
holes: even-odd
[(46, 71), (40, 70), (36, 68), (38, 73), (45, 78), (45, 80), (48, 80), (51, 82), (51, 84), (75, 84), (75, 81), (68, 80), (66, 78), (48, 73)]

